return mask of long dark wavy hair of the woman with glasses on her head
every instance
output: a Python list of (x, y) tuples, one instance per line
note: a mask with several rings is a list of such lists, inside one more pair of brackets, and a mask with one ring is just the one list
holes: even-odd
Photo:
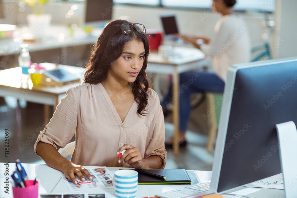
[(149, 40), (145, 34), (138, 33), (134, 28), (132, 33), (123, 34), (120, 29), (121, 24), (131, 24), (127, 20), (117, 19), (109, 22), (98, 37), (97, 44), (91, 50), (89, 63), (86, 64), (84, 74), (84, 83), (98, 84), (107, 77), (110, 65), (118, 59), (124, 45), (132, 40), (143, 42), (145, 54), (143, 57), (143, 66), (133, 83), (129, 83), (132, 88), (135, 101), (138, 103), (137, 113), (145, 115), (148, 104), (148, 88), (151, 88), (151, 82), (146, 76), (146, 67), (149, 56)]

